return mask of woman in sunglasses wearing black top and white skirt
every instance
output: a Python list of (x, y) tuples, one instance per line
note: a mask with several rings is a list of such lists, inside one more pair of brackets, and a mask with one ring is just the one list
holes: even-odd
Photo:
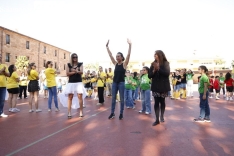
[(67, 64), (67, 76), (69, 77), (68, 84), (65, 88), (65, 95), (68, 95), (68, 118), (71, 118), (71, 105), (74, 94), (77, 94), (80, 105), (80, 117), (83, 117), (83, 83), (81, 75), (83, 74), (83, 63), (78, 62), (76, 53), (71, 55), (71, 61)]

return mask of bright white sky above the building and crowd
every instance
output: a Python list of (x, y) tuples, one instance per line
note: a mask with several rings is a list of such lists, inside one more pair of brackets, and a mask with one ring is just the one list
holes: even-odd
[(108, 39), (126, 55), (130, 38), (131, 60), (234, 53), (234, 0), (0, 0), (0, 25), (83, 62), (108, 60)]

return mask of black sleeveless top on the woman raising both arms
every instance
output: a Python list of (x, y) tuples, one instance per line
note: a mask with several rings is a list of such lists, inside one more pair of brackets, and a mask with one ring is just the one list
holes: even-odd
[(113, 81), (115, 83), (124, 82), (125, 81), (125, 69), (123, 67), (123, 63), (121, 65), (118, 65), (118, 63), (115, 65), (115, 71), (114, 71), (114, 78)]

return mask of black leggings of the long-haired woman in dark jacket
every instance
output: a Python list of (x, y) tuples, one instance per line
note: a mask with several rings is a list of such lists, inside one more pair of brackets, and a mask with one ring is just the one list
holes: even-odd
[[(161, 109), (161, 120), (164, 120), (164, 112), (165, 112), (165, 98), (162, 97), (154, 97), (154, 111), (156, 115), (156, 122), (159, 122), (159, 109)], [(161, 107), (159, 107), (159, 103), (161, 104)]]

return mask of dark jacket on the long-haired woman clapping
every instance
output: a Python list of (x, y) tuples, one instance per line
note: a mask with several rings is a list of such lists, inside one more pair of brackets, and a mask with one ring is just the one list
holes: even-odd
[(152, 78), (151, 91), (157, 93), (164, 93), (171, 90), (169, 75), (170, 65), (169, 62), (164, 62), (160, 65), (159, 70), (153, 73), (154, 67), (151, 65), (148, 77)]

